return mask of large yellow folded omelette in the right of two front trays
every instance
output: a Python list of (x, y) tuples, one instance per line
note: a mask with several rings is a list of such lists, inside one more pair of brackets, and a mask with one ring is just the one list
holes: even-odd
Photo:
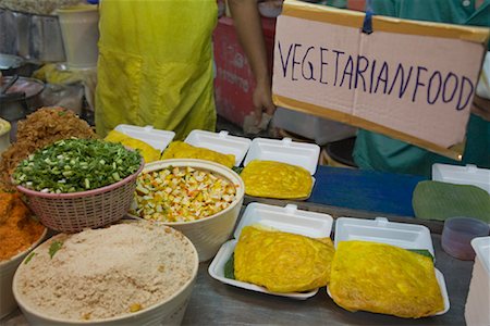
[(444, 310), (432, 260), (384, 243), (340, 242), (329, 290), (348, 311), (419, 318)]

